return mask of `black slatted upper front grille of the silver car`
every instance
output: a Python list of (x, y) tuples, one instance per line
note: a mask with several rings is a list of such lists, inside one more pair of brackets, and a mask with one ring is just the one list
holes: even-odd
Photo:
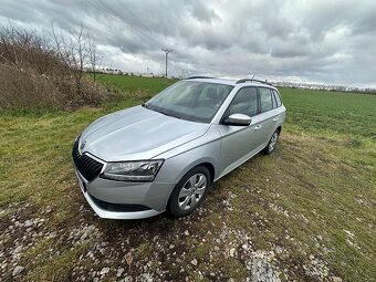
[(103, 168), (103, 164), (100, 161), (96, 161), (95, 159), (91, 158), (87, 155), (80, 155), (79, 152), (79, 142), (77, 138), (76, 142), (73, 145), (72, 149), (72, 157), (75, 167), (80, 171), (80, 174), (87, 180), (92, 181), (95, 177), (97, 177)]

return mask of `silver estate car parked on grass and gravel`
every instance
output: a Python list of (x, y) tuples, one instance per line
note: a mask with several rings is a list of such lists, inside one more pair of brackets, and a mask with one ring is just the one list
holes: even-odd
[(210, 184), (272, 153), (284, 117), (265, 82), (190, 77), (92, 123), (74, 143), (74, 169), (101, 218), (182, 217)]

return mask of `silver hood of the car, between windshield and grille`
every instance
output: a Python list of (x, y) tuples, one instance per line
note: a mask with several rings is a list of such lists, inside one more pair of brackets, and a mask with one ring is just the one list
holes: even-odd
[(209, 124), (166, 116), (136, 106), (92, 123), (81, 135), (82, 153), (106, 161), (150, 159), (202, 136)]

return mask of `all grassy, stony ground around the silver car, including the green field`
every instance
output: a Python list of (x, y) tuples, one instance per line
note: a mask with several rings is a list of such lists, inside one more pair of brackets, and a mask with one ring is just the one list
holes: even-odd
[[(244, 281), (260, 268), (282, 281), (376, 280), (375, 95), (282, 88), (288, 118), (274, 154), (220, 179), (188, 218), (114, 221), (82, 197), (73, 140), (174, 81), (101, 81), (121, 101), (1, 114), (0, 280)], [(24, 268), (18, 276), (15, 265)]]

